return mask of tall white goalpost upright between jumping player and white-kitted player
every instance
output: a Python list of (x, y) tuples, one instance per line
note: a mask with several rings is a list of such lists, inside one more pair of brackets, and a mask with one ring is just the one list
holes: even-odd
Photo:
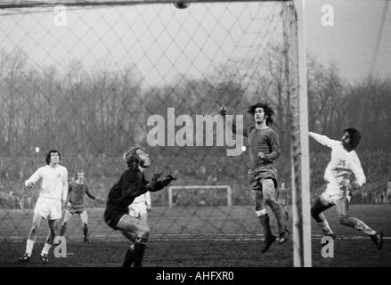
[[(308, 143), (308, 99), (305, 61), (305, 0), (286, 4), (284, 26), (288, 49), (291, 118), (291, 172), (293, 216), (293, 264), (312, 266), (311, 199)], [(287, 32), (287, 31), (285, 31)]]

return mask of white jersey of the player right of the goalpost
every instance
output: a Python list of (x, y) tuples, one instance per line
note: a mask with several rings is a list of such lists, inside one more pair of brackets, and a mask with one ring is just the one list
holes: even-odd
[(314, 140), (331, 149), (331, 159), (324, 172), (324, 179), (326, 181), (339, 190), (343, 186), (349, 187), (352, 174), (360, 186), (366, 183), (360, 159), (358, 159), (355, 151), (346, 151), (341, 141), (331, 140), (326, 135), (312, 132), (309, 132), (309, 134)]

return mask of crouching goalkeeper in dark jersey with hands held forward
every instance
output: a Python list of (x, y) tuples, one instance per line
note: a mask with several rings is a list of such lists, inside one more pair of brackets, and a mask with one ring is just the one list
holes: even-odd
[(144, 170), (151, 166), (150, 157), (143, 148), (135, 146), (124, 153), (127, 169), (109, 192), (104, 221), (112, 229), (120, 231), (127, 240), (129, 248), (122, 267), (142, 267), (143, 254), (148, 241), (149, 225), (134, 216), (129, 215), (129, 205), (137, 196), (146, 191), (159, 191), (175, 180), (173, 175), (167, 175), (159, 180), (161, 173), (152, 176), (151, 182), (144, 177)]

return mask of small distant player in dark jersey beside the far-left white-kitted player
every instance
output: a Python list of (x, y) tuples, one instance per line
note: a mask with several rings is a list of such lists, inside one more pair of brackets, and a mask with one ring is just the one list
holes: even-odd
[(97, 201), (101, 199), (90, 193), (88, 186), (84, 183), (85, 177), (85, 172), (83, 170), (78, 170), (75, 176), (76, 181), (74, 183), (69, 183), (67, 198), (68, 203), (65, 210), (64, 220), (61, 224), (60, 236), (64, 236), (67, 224), (73, 214), (78, 214), (83, 224), (84, 242), (92, 242), (88, 239), (88, 215), (85, 208), (85, 195)]

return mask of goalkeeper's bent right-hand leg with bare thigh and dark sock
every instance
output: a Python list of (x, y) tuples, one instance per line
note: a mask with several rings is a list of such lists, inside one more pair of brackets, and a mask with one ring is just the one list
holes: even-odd
[[(124, 215), (118, 221), (117, 227), (119, 230), (126, 232), (134, 232), (134, 267), (142, 267), (143, 255), (150, 234), (148, 224), (142, 223), (133, 216)], [(130, 249), (130, 248), (129, 248)]]

